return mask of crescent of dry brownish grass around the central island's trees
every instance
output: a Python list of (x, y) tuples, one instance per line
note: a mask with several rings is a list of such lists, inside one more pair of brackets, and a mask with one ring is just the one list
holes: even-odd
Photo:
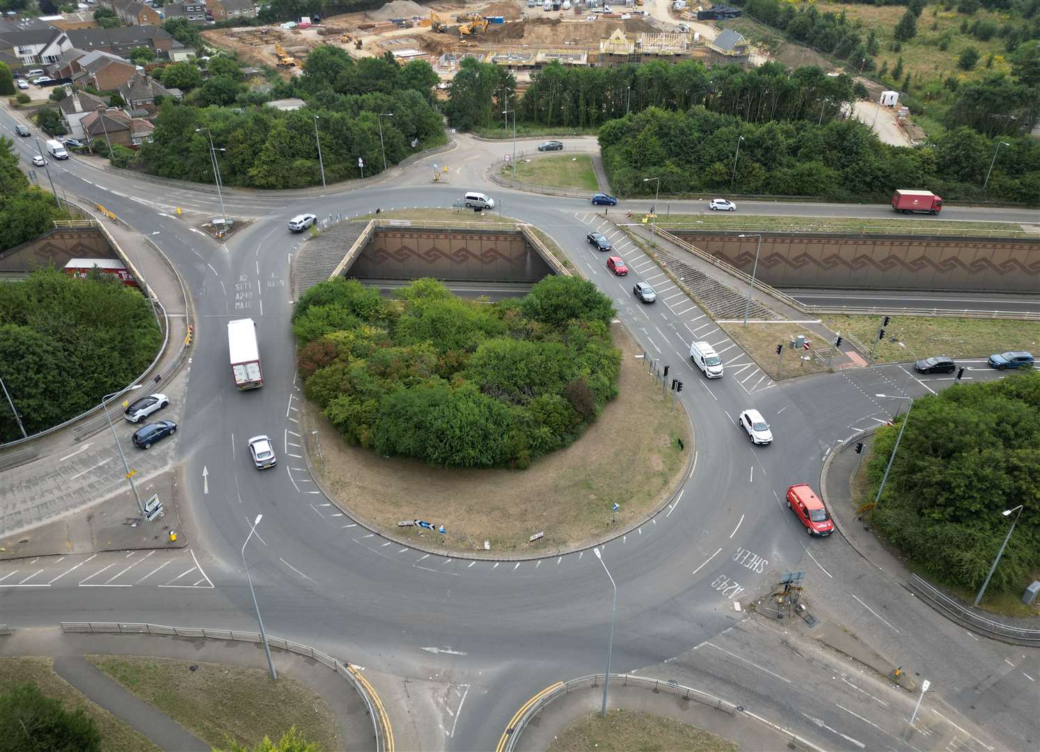
[[(373, 529), (445, 551), (539, 554), (588, 543), (630, 525), (671, 495), (693, 451), (690, 420), (679, 403), (654, 389), (640, 347), (614, 327), (622, 351), (620, 394), (569, 447), (529, 469), (431, 468), (383, 458), (347, 445), (332, 424), (307, 405), (308, 452), (326, 491)], [(311, 433), (318, 430), (320, 450)], [(681, 438), (685, 449), (679, 449)], [(621, 504), (617, 523), (612, 505)], [(445, 536), (401, 520), (422, 519), (447, 528)], [(528, 539), (540, 531), (538, 541)]]

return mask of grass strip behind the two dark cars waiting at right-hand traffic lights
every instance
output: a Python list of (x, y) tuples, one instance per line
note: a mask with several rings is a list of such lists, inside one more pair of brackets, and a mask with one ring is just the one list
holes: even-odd
[[(825, 314), (824, 323), (835, 332), (851, 333), (869, 346), (878, 336), (883, 316)], [(895, 342), (891, 338), (896, 339)], [(903, 342), (905, 346), (901, 346)], [(933, 355), (951, 358), (989, 357), (1009, 349), (1040, 352), (1040, 323), (999, 318), (926, 318), (892, 316), (885, 339), (874, 358), (879, 363), (916, 360)], [(984, 366), (979, 366), (984, 367)]]

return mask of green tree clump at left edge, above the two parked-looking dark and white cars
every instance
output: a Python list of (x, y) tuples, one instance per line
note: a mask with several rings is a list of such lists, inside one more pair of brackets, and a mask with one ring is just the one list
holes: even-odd
[[(131, 383), (161, 342), (148, 301), (114, 278), (93, 271), (77, 279), (51, 268), (0, 285), (0, 378), (30, 435)], [(4, 398), (0, 442), (17, 438)]]

